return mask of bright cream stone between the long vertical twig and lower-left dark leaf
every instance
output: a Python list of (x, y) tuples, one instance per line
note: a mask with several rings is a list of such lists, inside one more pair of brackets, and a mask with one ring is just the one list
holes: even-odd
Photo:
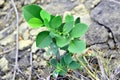
[(19, 50), (23, 50), (27, 47), (30, 47), (32, 45), (33, 41), (31, 40), (21, 40), (19, 41)]

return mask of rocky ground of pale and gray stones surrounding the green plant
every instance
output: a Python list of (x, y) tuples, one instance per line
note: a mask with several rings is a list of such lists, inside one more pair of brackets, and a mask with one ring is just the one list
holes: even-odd
[[(100, 51), (104, 64), (111, 58), (108, 80), (120, 80), (120, 0), (15, 0), (19, 15), (19, 70), (16, 80), (30, 78), (31, 54), (32, 80), (49, 80), (51, 74), (51, 69), (47, 68), (51, 56), (35, 45), (35, 37), (41, 29), (30, 28), (23, 19), (22, 7), (31, 3), (42, 6), (52, 14), (81, 17), (81, 21), (89, 25), (83, 38), (87, 48)], [(11, 0), (0, 0), (0, 80), (12, 80), (15, 51), (15, 11)]]

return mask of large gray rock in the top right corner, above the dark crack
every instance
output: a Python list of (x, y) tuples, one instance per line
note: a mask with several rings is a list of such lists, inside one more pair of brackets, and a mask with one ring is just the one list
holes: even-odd
[(116, 43), (120, 42), (120, 2), (103, 0), (91, 11), (91, 17), (108, 27), (113, 33)]

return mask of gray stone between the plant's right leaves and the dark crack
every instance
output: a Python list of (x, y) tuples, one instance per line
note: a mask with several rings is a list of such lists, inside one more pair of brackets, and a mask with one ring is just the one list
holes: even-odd
[(104, 26), (92, 23), (86, 33), (87, 45), (104, 43), (108, 40), (108, 32)]

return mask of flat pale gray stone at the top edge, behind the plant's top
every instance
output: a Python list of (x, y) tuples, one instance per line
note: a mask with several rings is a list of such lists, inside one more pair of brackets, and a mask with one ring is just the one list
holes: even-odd
[(51, 0), (49, 4), (44, 4), (42, 7), (52, 14), (63, 14), (79, 4), (79, 0)]

